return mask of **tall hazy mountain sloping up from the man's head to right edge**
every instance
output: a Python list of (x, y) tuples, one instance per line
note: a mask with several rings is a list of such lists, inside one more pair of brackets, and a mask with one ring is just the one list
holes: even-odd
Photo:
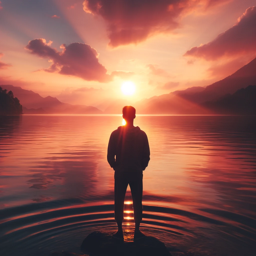
[[(144, 99), (134, 104), (137, 113), (140, 114), (213, 114), (223, 113), (221, 107), (224, 108), (224, 101), (231, 97), (231, 94), (242, 88), (247, 88), (250, 85), (256, 84), (256, 58), (237, 70), (232, 75), (215, 82), (207, 87), (195, 86), (187, 88), (183, 91), (174, 91), (160, 96), (154, 96), (150, 99)], [(247, 89), (248, 90), (248, 89)], [(240, 92), (241, 93), (241, 92)], [(241, 104), (241, 99), (234, 98), (238, 104)], [(249, 97), (249, 95), (244, 95)], [(230, 99), (231, 99), (230, 98)], [(207, 103), (206, 103), (207, 102)], [(216, 103), (213, 103), (216, 102)], [(240, 103), (239, 103), (240, 102)], [(205, 103), (205, 104), (204, 104)], [(225, 106), (227, 112), (231, 113), (231, 105)], [(227, 103), (228, 104), (228, 103)], [(219, 107), (218, 107), (219, 106)], [(246, 108), (251, 113), (249, 108)], [(242, 112), (246, 113), (246, 109)], [(223, 110), (224, 111), (224, 110)], [(234, 107), (234, 112), (241, 111)]]

